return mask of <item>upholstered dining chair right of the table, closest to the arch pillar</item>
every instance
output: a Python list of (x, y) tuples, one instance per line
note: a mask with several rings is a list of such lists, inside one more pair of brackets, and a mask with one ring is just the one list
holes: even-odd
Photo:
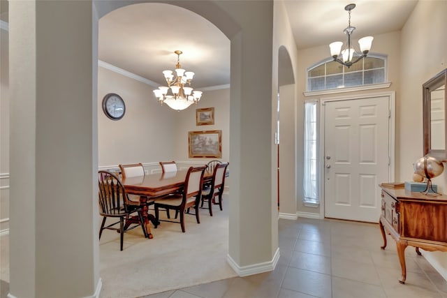
[[(212, 204), (219, 204), (219, 207), (222, 210), (222, 194), (223, 188), (225, 187), (225, 174), (228, 164), (229, 163), (218, 163), (215, 165), (210, 186), (205, 186), (202, 190), (202, 204), (200, 207), (203, 207), (203, 203), (207, 202), (208, 209), (210, 209), (210, 216), (212, 216)], [(218, 199), (219, 202), (216, 202), (216, 199)]]

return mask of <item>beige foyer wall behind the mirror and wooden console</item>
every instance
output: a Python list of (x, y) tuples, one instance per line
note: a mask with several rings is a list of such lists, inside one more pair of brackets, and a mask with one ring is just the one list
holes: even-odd
[[(418, 1), (402, 29), (400, 100), (397, 102), (396, 159), (398, 181), (408, 181), (413, 163), (423, 156), (422, 84), (447, 67), (447, 1)], [(446, 164), (444, 164), (446, 165)], [(447, 191), (447, 173), (433, 179)], [(447, 254), (423, 252), (447, 278)]]

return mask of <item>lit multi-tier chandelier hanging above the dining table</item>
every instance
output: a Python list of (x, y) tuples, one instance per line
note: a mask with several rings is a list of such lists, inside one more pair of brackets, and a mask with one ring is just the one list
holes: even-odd
[[(168, 86), (160, 86), (154, 90), (155, 97), (160, 104), (166, 103), (173, 110), (184, 110), (193, 103), (197, 103), (202, 96), (202, 91), (193, 91), (191, 80), (194, 73), (186, 71), (180, 65), (180, 54), (182, 51), (175, 51), (177, 54), (177, 64), (175, 64), (175, 77), (172, 70), (164, 70), (163, 75)], [(184, 85), (187, 84), (187, 87)]]

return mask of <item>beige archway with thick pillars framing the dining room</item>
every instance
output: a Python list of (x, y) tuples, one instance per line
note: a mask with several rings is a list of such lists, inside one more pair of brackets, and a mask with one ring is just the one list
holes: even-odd
[[(114, 7), (131, 4), (104, 2), (10, 2), (10, 33), (22, 33), (10, 34), (11, 129), (20, 132), (10, 138), (15, 297), (98, 292), (97, 22)], [(240, 276), (270, 271), (279, 258), (270, 163), (273, 1), (169, 3), (203, 15), (231, 40), (228, 262)], [(54, 212), (49, 220), (49, 210), (67, 212)]]

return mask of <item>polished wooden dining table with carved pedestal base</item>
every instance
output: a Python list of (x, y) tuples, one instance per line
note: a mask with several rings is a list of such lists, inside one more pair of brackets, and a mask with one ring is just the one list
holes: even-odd
[[(169, 195), (170, 193), (178, 193), (184, 188), (184, 181), (186, 179), (186, 173), (188, 170), (177, 170), (175, 172), (159, 172), (154, 174), (147, 174), (145, 176), (138, 177), (126, 177), (122, 179), (122, 184), (126, 189), (126, 193), (131, 195), (140, 195), (140, 205), (142, 206), (142, 216), (145, 221), (145, 227), (149, 239), (154, 236), (150, 232), (149, 221), (157, 226), (155, 216), (149, 214), (147, 201), (159, 198), (163, 195)], [(203, 173), (203, 183), (210, 182), (212, 180), (212, 172), (205, 170)], [(126, 221), (124, 229), (126, 229), (131, 223), (139, 221), (138, 218), (129, 218)]]

